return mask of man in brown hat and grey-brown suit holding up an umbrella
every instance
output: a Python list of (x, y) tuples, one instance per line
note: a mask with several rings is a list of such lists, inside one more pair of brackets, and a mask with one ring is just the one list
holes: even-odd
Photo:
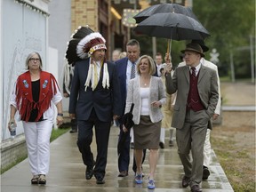
[(172, 127), (176, 128), (178, 154), (185, 172), (182, 187), (189, 185), (192, 192), (200, 192), (204, 140), (219, 99), (218, 81), (216, 71), (200, 63), (204, 52), (199, 44), (187, 44), (181, 52), (185, 53), (186, 66), (176, 68), (171, 76), (172, 64), (167, 64), (166, 91), (177, 92)]

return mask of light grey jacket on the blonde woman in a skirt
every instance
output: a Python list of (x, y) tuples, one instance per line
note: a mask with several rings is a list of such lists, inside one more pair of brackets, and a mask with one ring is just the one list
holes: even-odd
[[(151, 103), (153, 101), (160, 101), (162, 104), (165, 103), (166, 94), (164, 92), (164, 84), (160, 77), (151, 76), (149, 84), (149, 98), (148, 106), (149, 116), (152, 123), (159, 122), (163, 119), (161, 108), (153, 108)], [(134, 124), (140, 123), (140, 109), (141, 109), (141, 98), (140, 98), (140, 76), (136, 76), (128, 84), (125, 113), (130, 111), (131, 105), (134, 103), (132, 111)]]

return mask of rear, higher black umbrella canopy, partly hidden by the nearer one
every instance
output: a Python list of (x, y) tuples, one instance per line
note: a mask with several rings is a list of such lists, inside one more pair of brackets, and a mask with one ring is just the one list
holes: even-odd
[(147, 19), (153, 14), (163, 12), (180, 13), (197, 20), (196, 15), (192, 12), (190, 8), (182, 6), (180, 4), (155, 4), (139, 12), (133, 18), (136, 20), (136, 23), (140, 23), (142, 20)]

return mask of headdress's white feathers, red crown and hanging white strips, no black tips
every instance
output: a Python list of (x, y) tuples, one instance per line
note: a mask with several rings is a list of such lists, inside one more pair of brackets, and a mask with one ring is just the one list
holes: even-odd
[[(76, 54), (79, 58), (81, 59), (86, 59), (92, 56), (92, 53), (97, 51), (97, 50), (101, 50), (101, 49), (105, 49), (107, 50), (106, 47), (106, 40), (103, 36), (101, 36), (101, 34), (99, 32), (94, 32), (89, 34), (88, 36), (85, 36), (78, 44), (76, 47)], [(106, 62), (106, 59), (103, 60), (104, 64), (103, 64), (103, 78), (102, 78), (102, 86), (103, 88), (109, 88), (109, 75), (108, 75), (108, 65)], [(89, 66), (89, 70), (88, 70), (88, 74), (87, 74), (87, 78), (85, 81), (85, 92), (87, 90), (87, 87), (90, 86), (90, 81), (94, 82), (94, 78), (95, 76), (93, 76), (94, 71), (97, 70), (96, 65), (95, 65), (95, 61), (92, 60), (91, 57), (91, 62), (90, 62), (90, 66)], [(92, 86), (92, 91), (96, 88), (93, 86), (93, 84), (91, 83)]]

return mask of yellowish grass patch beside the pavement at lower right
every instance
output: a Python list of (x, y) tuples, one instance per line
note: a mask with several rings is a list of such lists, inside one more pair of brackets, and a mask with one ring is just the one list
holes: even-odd
[(249, 156), (247, 148), (238, 148), (230, 138), (211, 138), (212, 148), (235, 192), (255, 191), (255, 159)]

